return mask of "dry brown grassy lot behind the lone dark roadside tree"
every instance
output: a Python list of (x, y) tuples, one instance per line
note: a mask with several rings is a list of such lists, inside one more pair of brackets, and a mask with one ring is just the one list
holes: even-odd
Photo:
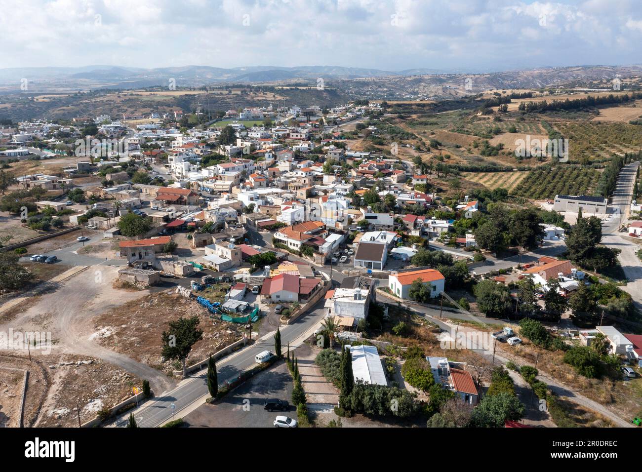
[(194, 315), (200, 319), (203, 340), (194, 345), (188, 365), (243, 336), (245, 326), (211, 319), (209, 311), (196, 301), (180, 297), (173, 290), (168, 292), (146, 295), (102, 313), (94, 320), (95, 332), (90, 340), (169, 373), (180, 369), (180, 363), (163, 362), (160, 356), (161, 335), (168, 329), (169, 321)]

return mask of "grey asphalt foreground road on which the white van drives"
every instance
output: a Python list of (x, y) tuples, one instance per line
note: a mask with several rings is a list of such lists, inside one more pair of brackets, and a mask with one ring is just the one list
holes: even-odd
[[(324, 316), (324, 301), (318, 302), (314, 310), (309, 311), (297, 319), (293, 324), (281, 328), (281, 344), (285, 346), (290, 342), (290, 350), (300, 345), (309, 335), (313, 334)], [(255, 344), (237, 351), (220, 362), (216, 363), (218, 381), (222, 385), (225, 381), (236, 379), (241, 372), (256, 365), (254, 357), (261, 351), (274, 350), (273, 333), (268, 333)], [(205, 376), (207, 369), (195, 372), (175, 389), (164, 392), (145, 403), (139, 410), (135, 410), (134, 417), (138, 426), (152, 428), (160, 426), (172, 418), (171, 404), (176, 406), (175, 416), (180, 418), (189, 413), (194, 406), (202, 405), (209, 393)], [(123, 415), (116, 424), (124, 426), (129, 413)]]

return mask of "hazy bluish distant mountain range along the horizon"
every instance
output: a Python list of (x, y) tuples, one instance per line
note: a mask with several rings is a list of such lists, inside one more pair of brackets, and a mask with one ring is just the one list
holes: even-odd
[[(83, 67), (15, 67), (0, 69), (0, 94), (20, 92), (22, 79), (29, 83), (29, 91), (74, 91), (87, 89), (137, 89), (167, 87), (174, 79), (177, 87), (202, 87), (223, 83), (293, 83), (313, 84), (318, 78), (352, 94), (360, 90), (393, 91), (394, 96), (419, 94), (421, 96), (468, 95), (490, 89), (517, 89), (581, 87), (594, 81), (641, 76), (641, 66), (569, 66), (537, 67), (534, 69), (503, 72), (471, 73), (439, 69), (405, 69), (384, 71), (342, 66), (249, 66), (225, 69), (211, 66), (141, 67), (83, 66)], [(471, 78), (472, 89), (464, 89), (463, 81)], [(453, 92), (456, 90), (456, 92)], [(370, 95), (372, 96), (372, 95)]]

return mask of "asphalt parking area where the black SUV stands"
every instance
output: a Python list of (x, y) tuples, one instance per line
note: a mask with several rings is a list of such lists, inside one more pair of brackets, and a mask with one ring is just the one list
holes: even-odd
[(252, 377), (213, 405), (199, 406), (183, 420), (196, 428), (273, 428), (277, 415), (297, 419), (296, 409), (291, 405), (287, 412), (264, 410), (266, 398), (291, 403), (292, 376), (283, 361)]

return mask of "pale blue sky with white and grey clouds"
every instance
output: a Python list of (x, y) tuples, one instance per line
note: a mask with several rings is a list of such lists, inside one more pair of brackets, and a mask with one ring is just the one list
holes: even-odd
[(0, 67), (642, 64), (642, 1), (0, 0)]

